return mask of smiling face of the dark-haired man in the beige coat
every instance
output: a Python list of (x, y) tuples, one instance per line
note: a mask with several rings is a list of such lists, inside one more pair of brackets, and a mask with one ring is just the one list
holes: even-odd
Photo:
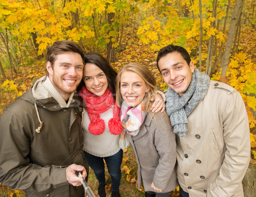
[(174, 52), (160, 58), (158, 65), (164, 82), (182, 96), (191, 82), (194, 63), (191, 61), (188, 65), (180, 53)]

